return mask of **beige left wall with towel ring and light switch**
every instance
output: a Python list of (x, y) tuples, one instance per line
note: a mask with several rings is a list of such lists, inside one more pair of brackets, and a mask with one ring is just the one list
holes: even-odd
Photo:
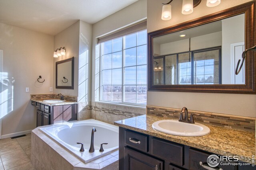
[[(2, 135), (36, 127), (36, 109), (30, 94), (50, 94), (53, 86), (53, 36), (0, 23), (3, 50)], [(8, 74), (8, 76), (7, 76)], [(45, 79), (38, 83), (38, 76)], [(30, 92), (25, 92), (29, 87)], [(16, 136), (19, 134), (14, 134)]]

